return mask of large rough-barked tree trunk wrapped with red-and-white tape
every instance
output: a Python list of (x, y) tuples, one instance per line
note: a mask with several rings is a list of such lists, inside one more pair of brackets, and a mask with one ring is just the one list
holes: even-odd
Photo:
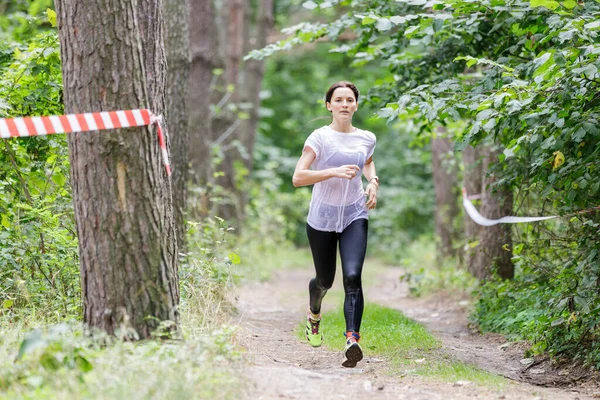
[[(160, 0), (57, 0), (65, 109), (165, 111)], [(177, 322), (170, 180), (154, 127), (68, 137), (84, 321), (147, 338)]]

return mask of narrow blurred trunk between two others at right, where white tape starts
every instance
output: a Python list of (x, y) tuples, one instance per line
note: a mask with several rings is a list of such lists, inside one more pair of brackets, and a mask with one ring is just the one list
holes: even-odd
[[(465, 147), (463, 150), (463, 187), (466, 189), (468, 195), (480, 195), (483, 190), (481, 162), (478, 149), (473, 146)], [(473, 273), (475, 271), (473, 265), (475, 261), (474, 247), (477, 245), (481, 226), (477, 225), (466, 212), (464, 213), (463, 222), (465, 228), (465, 265), (467, 266), (467, 270)]]

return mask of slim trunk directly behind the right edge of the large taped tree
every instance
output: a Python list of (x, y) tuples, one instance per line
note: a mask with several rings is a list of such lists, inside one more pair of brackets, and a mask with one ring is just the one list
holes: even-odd
[(188, 180), (187, 87), (190, 70), (187, 0), (169, 0), (165, 4), (167, 51), (167, 122), (171, 137), (173, 165), (173, 209), (177, 246), (185, 247), (184, 212)]

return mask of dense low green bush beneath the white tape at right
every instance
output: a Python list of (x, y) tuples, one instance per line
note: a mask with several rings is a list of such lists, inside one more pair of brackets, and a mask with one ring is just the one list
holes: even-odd
[[(522, 242), (515, 246), (513, 257), (516, 279), (482, 285), (472, 319), (483, 331), (528, 340), (532, 353), (575, 355), (600, 368), (600, 347), (595, 340), (600, 324), (598, 280), (594, 278), (598, 270), (590, 263), (597, 257), (595, 243), (582, 247), (577, 238), (570, 237), (572, 230), (585, 228), (579, 221), (546, 224), (519, 232)], [(586, 257), (574, 258), (573, 249), (587, 249)]]

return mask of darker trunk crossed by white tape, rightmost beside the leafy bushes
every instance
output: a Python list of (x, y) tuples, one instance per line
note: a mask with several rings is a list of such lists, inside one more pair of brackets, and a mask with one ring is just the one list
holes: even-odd
[[(498, 161), (501, 151), (489, 147), (481, 148), (483, 176), (483, 193), (481, 194), (480, 213), (486, 218), (498, 219), (512, 213), (513, 194), (510, 189), (497, 190), (492, 194), (490, 185), (496, 176), (490, 173), (490, 165)], [(475, 255), (471, 273), (479, 279), (489, 278), (494, 271), (501, 278), (514, 277), (512, 264), (512, 239), (510, 225), (498, 224), (480, 227), (479, 243), (475, 247)]]

